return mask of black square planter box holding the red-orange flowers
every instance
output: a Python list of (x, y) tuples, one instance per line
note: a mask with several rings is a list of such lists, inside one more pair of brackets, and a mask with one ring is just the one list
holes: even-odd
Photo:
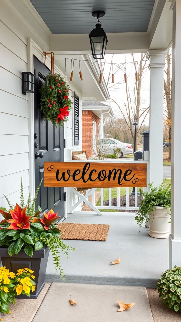
[(36, 283), (34, 292), (30, 293), (30, 297), (20, 294), (16, 296), (16, 298), (36, 299), (38, 297), (45, 284), (45, 273), (49, 252), (49, 247), (43, 247), (39, 251), (34, 251), (33, 256), (31, 257), (24, 252), (24, 249), (22, 249), (17, 255), (14, 254), (10, 257), (7, 252), (7, 248), (0, 247), (2, 266), (5, 266), (6, 269), (9, 269), (9, 271), (13, 273), (17, 273), (17, 270), (24, 267), (34, 271), (34, 282)]

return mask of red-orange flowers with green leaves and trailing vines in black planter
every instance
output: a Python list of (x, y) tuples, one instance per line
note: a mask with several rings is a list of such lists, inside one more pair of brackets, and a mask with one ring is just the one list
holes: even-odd
[(10, 207), (9, 211), (0, 208), (0, 213), (5, 219), (0, 222), (0, 246), (8, 247), (8, 254), (12, 256), (18, 254), (23, 248), (28, 256), (33, 256), (34, 251), (38, 251), (44, 246), (48, 246), (52, 251), (53, 262), (60, 276), (64, 278), (63, 270), (60, 266), (59, 248), (68, 257), (68, 250), (74, 251), (75, 248), (69, 248), (61, 239), (61, 232), (56, 228), (57, 220), (60, 218), (58, 213), (51, 209), (40, 217), (42, 209), (38, 206), (35, 211), (35, 200), (38, 196), (42, 181), (40, 182), (35, 196), (32, 200), (28, 196), (26, 207), (24, 206), (23, 182), (21, 179), (20, 205), (11, 205), (5, 196)]

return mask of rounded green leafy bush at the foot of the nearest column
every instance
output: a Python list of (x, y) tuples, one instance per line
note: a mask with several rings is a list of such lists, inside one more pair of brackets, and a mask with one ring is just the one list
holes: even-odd
[(181, 267), (166, 270), (158, 279), (157, 290), (167, 308), (181, 311)]

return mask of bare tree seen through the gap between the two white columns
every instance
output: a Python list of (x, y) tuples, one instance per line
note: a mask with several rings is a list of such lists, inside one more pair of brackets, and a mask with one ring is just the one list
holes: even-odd
[(164, 99), (166, 100), (166, 109), (164, 113), (164, 125), (168, 128), (168, 140), (170, 143), (169, 146), (169, 159), (171, 159), (171, 130), (172, 130), (172, 113), (171, 113), (171, 105), (172, 105), (172, 99), (171, 99), (171, 88), (172, 88), (172, 79), (170, 76), (171, 72), (171, 61), (172, 61), (172, 46), (169, 48), (169, 51), (166, 56), (167, 65), (164, 69), (166, 77), (164, 78)]

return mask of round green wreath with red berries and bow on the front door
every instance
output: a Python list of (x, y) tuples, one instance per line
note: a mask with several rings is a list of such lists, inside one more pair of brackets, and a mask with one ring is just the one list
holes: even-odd
[(47, 74), (46, 83), (40, 89), (40, 109), (44, 119), (51, 121), (57, 128), (59, 123), (63, 128), (72, 109), (71, 97), (68, 97), (69, 90), (67, 82), (60, 75), (52, 73)]

